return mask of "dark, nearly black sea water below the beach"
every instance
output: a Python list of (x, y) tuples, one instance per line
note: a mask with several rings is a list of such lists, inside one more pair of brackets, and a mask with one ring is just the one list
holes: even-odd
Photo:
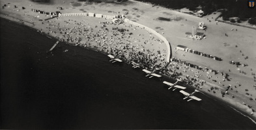
[(184, 101), (102, 53), (64, 43), (46, 53), (55, 42), (1, 19), (1, 129), (256, 128), (221, 101)]

